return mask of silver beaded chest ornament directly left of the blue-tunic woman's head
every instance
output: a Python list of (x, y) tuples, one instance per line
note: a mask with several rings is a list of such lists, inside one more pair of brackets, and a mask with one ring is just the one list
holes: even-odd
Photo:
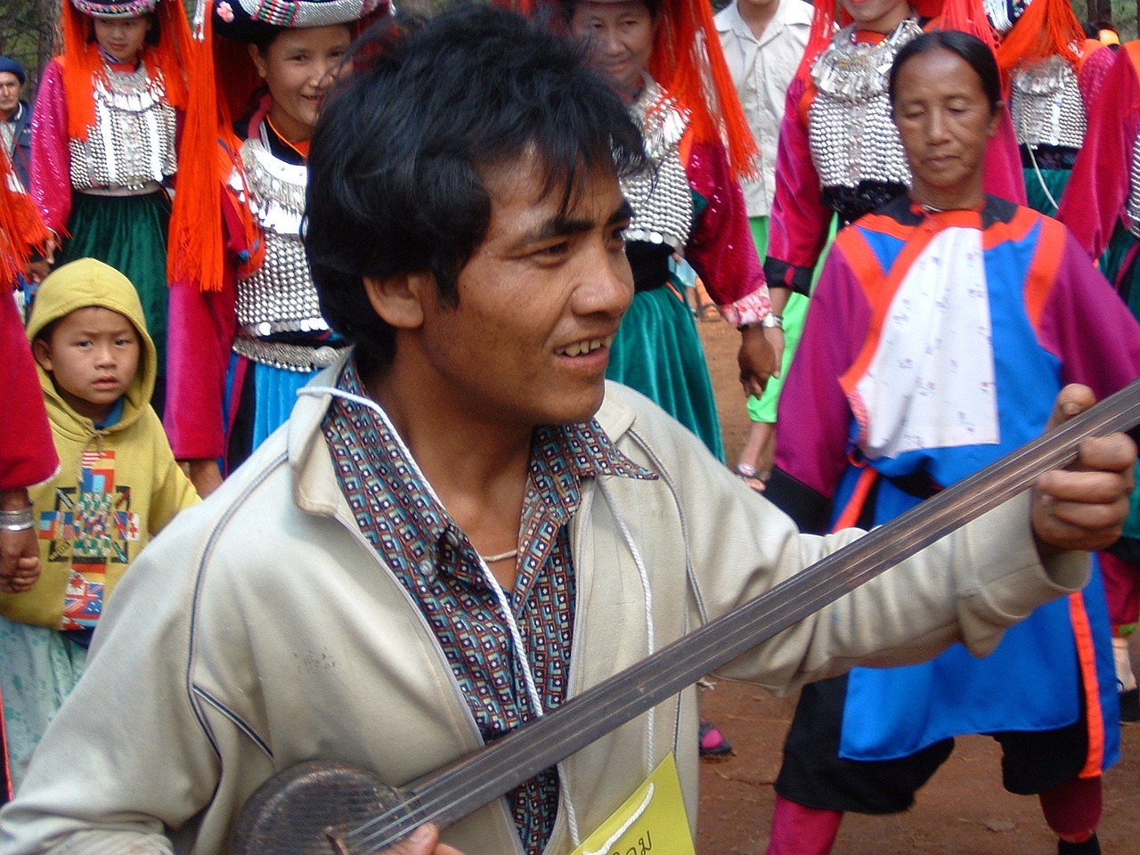
[(895, 56), (922, 27), (906, 18), (878, 44), (840, 30), (812, 66), (816, 95), (807, 112), (812, 162), (822, 187), (861, 181), (911, 182), (898, 130), (890, 119), (887, 81)]

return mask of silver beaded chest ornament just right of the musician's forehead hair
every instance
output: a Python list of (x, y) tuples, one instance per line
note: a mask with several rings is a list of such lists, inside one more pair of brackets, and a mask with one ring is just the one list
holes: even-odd
[(693, 228), (693, 194), (681, 162), (681, 139), (689, 114), (649, 75), (629, 114), (642, 129), (651, 169), (621, 179), (621, 192), (634, 209), (627, 241), (666, 244), (684, 250)]

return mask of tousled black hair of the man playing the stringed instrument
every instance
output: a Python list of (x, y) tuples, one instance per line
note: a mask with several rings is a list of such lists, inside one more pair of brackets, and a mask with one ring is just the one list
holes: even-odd
[(309, 157), (306, 249), (320, 308), (368, 372), (394, 331), (363, 277), (431, 272), (441, 301), (483, 242), (482, 173), (532, 154), (544, 193), (573, 204), (593, 170), (644, 166), (640, 131), (581, 50), (497, 8), (462, 6), (423, 24), (385, 19), (352, 49)]

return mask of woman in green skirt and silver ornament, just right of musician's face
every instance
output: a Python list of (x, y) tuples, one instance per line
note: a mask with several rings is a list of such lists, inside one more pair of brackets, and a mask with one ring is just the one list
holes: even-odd
[[(772, 373), (775, 359), (767, 335), (779, 331), (772, 326), (777, 319), (769, 310), (736, 181), (733, 119), (739, 133), (749, 140), (750, 133), (719, 52), (711, 13), (689, 0), (562, 2), (571, 31), (587, 44), (591, 64), (628, 104), (652, 163), (652, 170), (622, 179), (621, 189), (635, 212), (626, 229), (626, 254), (636, 293), (611, 345), (606, 376), (648, 396), (723, 459), (705, 352), (670, 275), (670, 259), (684, 255), (720, 314), (742, 329), (743, 381), (762, 373), (748, 367), (750, 340), (764, 345), (764, 377)], [(662, 39), (662, 31), (673, 40)], [(692, 44), (681, 43), (686, 36)], [(715, 46), (715, 52), (708, 46)], [(694, 56), (701, 57), (699, 64)], [(723, 68), (725, 82), (718, 96), (702, 91), (694, 97), (674, 85), (686, 73), (714, 81), (715, 67)], [(654, 79), (651, 70), (667, 72), (670, 79)], [(728, 129), (727, 152), (718, 128)]]

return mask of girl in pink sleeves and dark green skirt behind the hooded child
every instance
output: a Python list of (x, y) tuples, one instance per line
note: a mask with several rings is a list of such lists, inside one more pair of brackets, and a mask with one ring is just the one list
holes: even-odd
[[(139, 292), (165, 389), (166, 230), (188, 93), (189, 26), (178, 0), (70, 0), (64, 51), (44, 70), (32, 120), (30, 192), (55, 261), (96, 258)], [(47, 263), (38, 271), (47, 274)]]

